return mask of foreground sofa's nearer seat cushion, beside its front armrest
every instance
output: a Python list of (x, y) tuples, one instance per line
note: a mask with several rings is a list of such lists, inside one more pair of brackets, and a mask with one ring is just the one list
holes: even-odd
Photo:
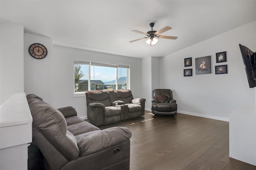
[(100, 129), (97, 128), (96, 126), (90, 124), (89, 122), (82, 121), (80, 123), (76, 123), (74, 125), (68, 126), (68, 130), (74, 136), (76, 136), (76, 135), (79, 135), (79, 134), (83, 134), (83, 133), (90, 132), (90, 131), (93, 131), (93, 130), (100, 130)]

